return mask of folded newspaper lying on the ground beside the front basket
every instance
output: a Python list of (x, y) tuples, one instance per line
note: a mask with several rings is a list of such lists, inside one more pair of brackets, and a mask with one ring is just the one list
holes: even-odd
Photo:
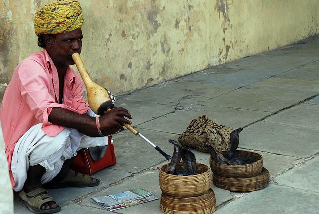
[(152, 192), (141, 188), (136, 188), (134, 190), (128, 190), (108, 196), (92, 197), (91, 201), (108, 211), (114, 211), (120, 208), (138, 205), (156, 199), (159, 198), (152, 195)]

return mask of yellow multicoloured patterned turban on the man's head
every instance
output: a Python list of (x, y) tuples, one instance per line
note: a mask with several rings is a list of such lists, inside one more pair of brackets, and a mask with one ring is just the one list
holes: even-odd
[(51, 1), (39, 9), (33, 23), (36, 35), (79, 29), (84, 24), (81, 5), (77, 0)]

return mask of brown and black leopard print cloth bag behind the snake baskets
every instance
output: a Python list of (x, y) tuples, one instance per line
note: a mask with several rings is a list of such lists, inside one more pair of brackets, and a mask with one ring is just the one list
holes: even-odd
[(207, 152), (206, 147), (201, 143), (211, 144), (216, 151), (225, 151), (230, 148), (229, 136), (233, 130), (225, 125), (218, 124), (203, 115), (193, 119), (183, 132), (178, 141), (180, 144)]

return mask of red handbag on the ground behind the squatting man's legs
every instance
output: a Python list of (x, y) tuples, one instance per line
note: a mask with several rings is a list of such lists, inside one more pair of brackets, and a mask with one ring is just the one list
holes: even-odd
[[(97, 147), (94, 147), (97, 148)], [(112, 136), (108, 136), (108, 146), (106, 151), (101, 151), (101, 158), (94, 160), (90, 151), (90, 148), (81, 149), (77, 152), (77, 156), (74, 158), (71, 169), (80, 172), (82, 174), (91, 175), (105, 167), (116, 164), (116, 157), (114, 153)]]

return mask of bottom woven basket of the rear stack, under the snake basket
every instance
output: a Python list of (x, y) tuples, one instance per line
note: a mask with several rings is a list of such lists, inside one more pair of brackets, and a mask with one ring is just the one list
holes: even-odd
[(213, 175), (213, 183), (216, 187), (230, 191), (255, 191), (263, 189), (269, 184), (269, 172), (263, 167), (259, 175), (250, 178), (226, 178)]

